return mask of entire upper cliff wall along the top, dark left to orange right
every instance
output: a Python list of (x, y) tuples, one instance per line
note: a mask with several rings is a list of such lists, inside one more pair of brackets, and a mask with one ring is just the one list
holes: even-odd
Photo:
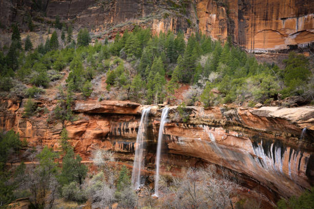
[[(94, 30), (96, 37), (115, 35), (134, 24), (151, 27), (155, 33), (202, 31), (215, 39), (229, 35), (248, 51), (267, 52), (312, 47), (314, 2), (311, 0), (4, 0), (0, 22), (23, 25), (26, 15), (50, 22), (57, 15), (77, 27)], [(46, 14), (38, 18), (36, 8)], [(185, 9), (184, 9), (185, 8)]]

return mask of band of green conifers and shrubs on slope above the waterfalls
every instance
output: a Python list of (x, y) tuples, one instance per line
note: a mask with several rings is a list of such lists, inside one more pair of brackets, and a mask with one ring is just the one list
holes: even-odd
[[(293, 52), (284, 60), (286, 67), (280, 69), (274, 64), (259, 64), (230, 39), (222, 45), (202, 34), (191, 35), (185, 43), (181, 32), (154, 36), (149, 29), (135, 27), (122, 37), (118, 33), (112, 43), (106, 39), (93, 46), (86, 29), (78, 32), (77, 44), (72, 36), (72, 27), (63, 27), (64, 49), (60, 49), (54, 31), (45, 45), (34, 50), (28, 37), (24, 51), (13, 25), (12, 44), (6, 53), (0, 52), (0, 89), (9, 96), (38, 96), (51, 81), (62, 78), (61, 71), (69, 66), (67, 91), (82, 93), (85, 98), (92, 94), (97, 76), (106, 74), (108, 95), (148, 104), (171, 102), (179, 83), (191, 85), (185, 94), (187, 105), (198, 100), (204, 106), (244, 101), (267, 104), (295, 95), (313, 100), (309, 60)], [(26, 90), (19, 81), (37, 89)]]

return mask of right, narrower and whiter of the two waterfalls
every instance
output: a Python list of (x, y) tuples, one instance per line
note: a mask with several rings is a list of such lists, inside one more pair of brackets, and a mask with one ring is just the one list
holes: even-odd
[(156, 173), (155, 173), (155, 194), (153, 196), (158, 197), (158, 186), (159, 186), (159, 162), (160, 162), (160, 152), (161, 152), (161, 144), (163, 140), (163, 130), (165, 123), (167, 122), (169, 108), (165, 107), (163, 109), (162, 117), (160, 119), (160, 127), (158, 133), (158, 144), (157, 144), (157, 151), (156, 151)]

